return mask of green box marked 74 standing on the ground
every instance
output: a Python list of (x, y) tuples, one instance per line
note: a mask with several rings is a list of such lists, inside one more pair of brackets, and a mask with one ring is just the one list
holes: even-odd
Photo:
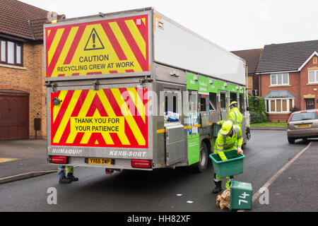
[(230, 210), (252, 209), (252, 184), (231, 180)]

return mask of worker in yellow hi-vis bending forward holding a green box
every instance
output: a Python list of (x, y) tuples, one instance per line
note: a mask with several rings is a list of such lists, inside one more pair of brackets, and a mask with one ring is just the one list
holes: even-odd
[[(239, 126), (233, 125), (232, 121), (225, 121), (222, 125), (222, 129), (218, 131), (218, 137), (216, 138), (216, 143), (214, 145), (214, 153), (218, 153), (221, 160), (227, 160), (224, 152), (228, 150), (237, 149), (237, 155), (243, 154), (242, 150), (243, 136), (242, 130)], [(230, 179), (233, 176), (227, 177), (228, 182), (226, 183), (226, 189), (230, 186)], [(214, 174), (214, 183), (216, 187), (213, 189), (213, 193), (219, 193), (222, 191), (222, 180), (217, 174)]]

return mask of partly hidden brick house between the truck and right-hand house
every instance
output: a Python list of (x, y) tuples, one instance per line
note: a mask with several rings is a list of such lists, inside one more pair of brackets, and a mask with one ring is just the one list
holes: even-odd
[(246, 49), (232, 51), (233, 54), (245, 59), (247, 64), (247, 90), (259, 90), (259, 75), (256, 74), (257, 66), (259, 65), (259, 59), (261, 58), (261, 52), (263, 49)]

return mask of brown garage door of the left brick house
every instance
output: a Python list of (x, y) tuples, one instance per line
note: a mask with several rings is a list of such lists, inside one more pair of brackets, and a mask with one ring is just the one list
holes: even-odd
[(27, 94), (0, 93), (0, 141), (29, 137)]

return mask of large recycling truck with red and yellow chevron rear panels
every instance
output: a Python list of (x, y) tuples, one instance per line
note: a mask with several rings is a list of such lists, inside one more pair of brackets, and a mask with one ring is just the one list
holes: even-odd
[(52, 164), (203, 172), (230, 102), (248, 129), (245, 61), (154, 8), (47, 23), (44, 57)]

